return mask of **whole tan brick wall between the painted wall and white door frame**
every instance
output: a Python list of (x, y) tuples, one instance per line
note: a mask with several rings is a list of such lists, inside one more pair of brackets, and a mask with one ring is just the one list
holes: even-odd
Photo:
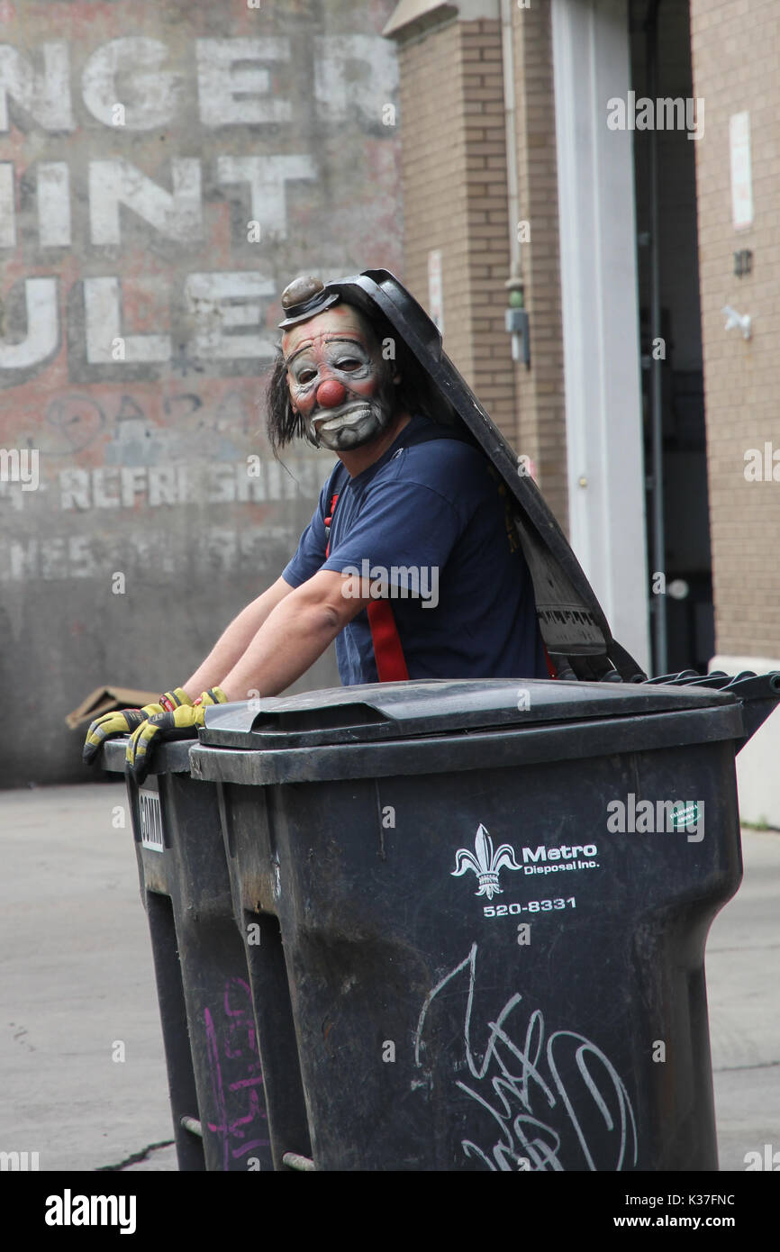
[[(563, 364), (548, 6), (515, 14), (520, 217), (532, 369), (503, 327), (510, 273), (501, 24), (449, 21), (399, 36), (404, 280), (428, 307), (442, 250), (444, 348), (510, 442), (531, 456), (566, 522)], [(513, 225), (516, 229), (516, 224)]]

